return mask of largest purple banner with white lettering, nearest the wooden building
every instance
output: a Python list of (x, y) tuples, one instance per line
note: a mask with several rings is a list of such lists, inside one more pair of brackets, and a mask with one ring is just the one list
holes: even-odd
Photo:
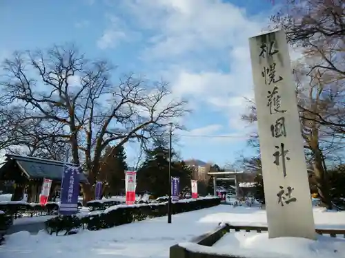
[(72, 215), (77, 213), (79, 196), (79, 167), (63, 166), (61, 180), (60, 215)]

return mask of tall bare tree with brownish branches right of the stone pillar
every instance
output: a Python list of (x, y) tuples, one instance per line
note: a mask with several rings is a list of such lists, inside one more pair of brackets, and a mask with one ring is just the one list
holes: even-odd
[(297, 71), (303, 74), (299, 85), (308, 84), (299, 87), (303, 136), (313, 154), (319, 195), (330, 208), (324, 153), (341, 149), (345, 133), (345, 2), (286, 0), (271, 20), (284, 28), (291, 45), (304, 47), (304, 64)]

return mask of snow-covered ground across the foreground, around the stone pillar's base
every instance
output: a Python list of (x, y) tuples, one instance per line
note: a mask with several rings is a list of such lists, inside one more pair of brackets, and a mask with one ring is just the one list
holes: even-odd
[[(323, 208), (314, 208), (314, 217), (316, 228), (345, 229), (345, 212), (326, 212)], [(233, 225), (266, 226), (266, 211), (259, 208), (243, 206), (234, 208), (230, 205), (219, 205), (173, 215), (172, 224), (167, 223), (166, 217), (159, 217), (98, 231), (81, 230), (77, 235), (69, 236), (50, 236), (44, 231), (37, 235), (30, 235), (26, 232), (14, 233), (6, 237), (6, 243), (0, 248), (0, 257), (167, 258), (170, 246), (186, 243), (191, 238), (212, 230), (219, 222), (228, 222)], [(331, 244), (328, 243), (329, 241)], [(262, 243), (262, 246), (258, 243)], [(268, 248), (268, 244), (275, 246)], [(186, 245), (193, 248), (193, 245)], [(261, 258), (262, 256), (258, 256), (259, 252), (256, 252), (255, 248), (264, 248), (265, 245), (264, 250), (273, 248), (273, 251), (279, 250), (277, 246), (281, 246), (282, 252), (285, 254), (289, 250), (300, 250), (299, 256), (294, 256), (298, 258), (322, 257), (325, 252), (326, 256), (324, 257), (345, 257), (344, 239), (320, 237), (315, 242), (306, 239), (273, 239), (272, 241), (272, 239), (267, 239), (266, 233), (228, 234), (217, 243), (216, 248), (212, 249), (213, 251), (219, 249), (224, 252), (233, 250), (233, 252), (242, 252), (242, 254), (246, 251)], [(325, 248), (320, 249), (320, 246)], [(210, 251), (210, 248), (206, 249)], [(273, 255), (270, 252), (265, 257), (284, 257), (284, 255), (277, 256), (277, 253)]]

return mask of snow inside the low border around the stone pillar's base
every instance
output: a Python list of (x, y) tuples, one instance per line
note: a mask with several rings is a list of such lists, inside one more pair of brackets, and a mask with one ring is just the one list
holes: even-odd
[(345, 239), (317, 236), (317, 240), (278, 237), (268, 239), (268, 233), (228, 233), (212, 247), (193, 243), (179, 244), (192, 252), (233, 255), (250, 258), (340, 258), (344, 257)]

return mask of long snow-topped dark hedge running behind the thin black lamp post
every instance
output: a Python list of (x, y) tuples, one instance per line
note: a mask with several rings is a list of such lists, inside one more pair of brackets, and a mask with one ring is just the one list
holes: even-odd
[[(196, 211), (201, 208), (209, 208), (220, 204), (218, 197), (204, 197), (196, 200), (185, 199), (172, 203), (172, 214)], [(99, 230), (112, 228), (131, 222), (138, 222), (153, 217), (162, 217), (168, 213), (168, 203), (160, 204), (134, 204), (117, 205), (107, 208), (105, 211), (93, 211), (88, 215), (59, 215), (46, 221), (46, 230), (52, 233), (64, 232), (64, 235), (76, 233), (75, 230), (86, 228), (88, 230)]]

